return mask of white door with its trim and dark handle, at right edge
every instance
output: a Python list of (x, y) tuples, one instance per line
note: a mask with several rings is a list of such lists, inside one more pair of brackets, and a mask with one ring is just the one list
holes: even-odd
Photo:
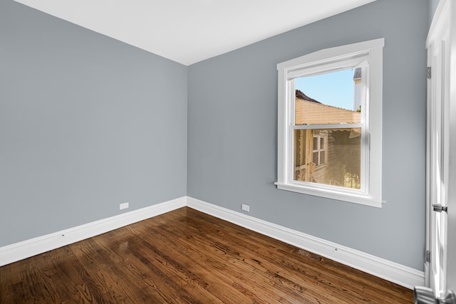
[(454, 161), (450, 164), (456, 153), (454, 11), (453, 0), (440, 0), (426, 41), (430, 66), (427, 80), (427, 250), (430, 252), (425, 271), (427, 284), (437, 297), (455, 288), (456, 173)]

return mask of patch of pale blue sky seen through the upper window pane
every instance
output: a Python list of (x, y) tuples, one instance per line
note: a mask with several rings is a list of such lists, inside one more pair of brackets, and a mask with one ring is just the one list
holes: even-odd
[(353, 110), (353, 70), (301, 77), (296, 89), (325, 105)]

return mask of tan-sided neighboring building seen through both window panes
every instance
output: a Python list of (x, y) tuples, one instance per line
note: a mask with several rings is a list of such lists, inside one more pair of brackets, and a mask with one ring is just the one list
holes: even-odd
[(300, 90), (295, 100), (296, 125), (338, 125), (294, 131), (294, 179), (359, 188), (361, 132), (343, 124), (361, 122), (361, 112), (323, 105)]

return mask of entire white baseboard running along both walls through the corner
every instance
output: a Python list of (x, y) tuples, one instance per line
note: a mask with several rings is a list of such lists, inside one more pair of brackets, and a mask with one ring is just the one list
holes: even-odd
[(225, 209), (188, 196), (126, 212), (124, 214), (119, 214), (118, 216), (112, 216), (108, 219), (93, 221), (89, 224), (58, 231), (46, 236), (40, 236), (38, 238), (0, 247), (0, 266), (14, 263), (24, 258), (29, 258), (36, 254), (66, 246), (77, 241), (82, 241), (83, 239), (88, 239), (99, 234), (104, 234), (105, 232), (144, 219), (150, 219), (153, 216), (164, 214), (183, 206), (189, 206), (190, 208), (202, 211), (205, 214), (224, 219), (225, 221), (229, 221), (252, 231), (257, 231), (260, 234), (270, 236), (271, 238), (283, 241), (284, 243), (289, 243), (298, 248), (306, 249), (326, 258), (331, 258), (331, 260), (338, 261), (366, 273), (371, 273), (374, 276), (384, 278), (385, 280), (403, 285), (410, 289), (413, 289), (415, 285), (425, 284), (425, 275), (423, 271), (418, 271), (408, 266), (378, 258), (368, 253), (341, 246), (330, 241), (318, 239), (315, 236), (310, 236), (299, 231), (288, 229), (284, 226), (256, 219), (252, 216), (247, 216), (240, 212)]

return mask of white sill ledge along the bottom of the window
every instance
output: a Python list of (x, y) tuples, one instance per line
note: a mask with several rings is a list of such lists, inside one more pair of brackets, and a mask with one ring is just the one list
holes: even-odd
[(278, 182), (274, 184), (277, 186), (277, 189), (281, 190), (326, 197), (327, 199), (337, 199), (338, 201), (348, 201), (349, 203), (362, 204), (377, 208), (381, 208), (382, 203), (384, 203), (384, 201), (381, 201), (381, 199), (375, 199), (371, 196), (351, 194), (347, 192), (337, 191), (336, 189), (313, 189), (311, 187), (304, 187), (301, 185), (298, 186), (294, 184), (280, 184)]

